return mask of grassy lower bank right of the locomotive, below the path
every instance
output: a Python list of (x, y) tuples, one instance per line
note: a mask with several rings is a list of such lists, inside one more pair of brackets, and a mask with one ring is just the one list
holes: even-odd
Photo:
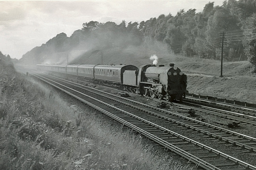
[[(236, 68), (233, 68), (236, 69)], [(250, 72), (248, 73), (250, 74)], [(256, 103), (256, 76), (218, 75), (188, 73), (188, 91), (194, 94), (209, 95), (229, 100)]]

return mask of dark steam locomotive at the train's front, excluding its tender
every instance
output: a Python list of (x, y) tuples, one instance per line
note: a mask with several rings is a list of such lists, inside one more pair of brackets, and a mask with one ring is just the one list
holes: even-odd
[(180, 100), (186, 94), (186, 75), (174, 64), (142, 65), (140, 67), (140, 91), (144, 96), (166, 100)]

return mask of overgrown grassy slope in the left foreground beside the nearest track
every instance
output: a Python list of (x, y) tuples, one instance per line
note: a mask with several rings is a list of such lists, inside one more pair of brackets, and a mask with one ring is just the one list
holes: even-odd
[[(0, 65), (1, 67), (1, 65)], [(11, 68), (0, 74), (0, 169), (195, 169)]]

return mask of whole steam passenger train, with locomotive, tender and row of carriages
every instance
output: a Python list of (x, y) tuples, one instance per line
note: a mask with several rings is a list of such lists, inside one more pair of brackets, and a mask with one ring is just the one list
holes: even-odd
[(144, 64), (139, 67), (123, 64), (37, 64), (37, 69), (76, 76), (77, 79), (90, 83), (112, 86), (166, 101), (182, 101), (188, 93), (187, 75), (174, 64)]

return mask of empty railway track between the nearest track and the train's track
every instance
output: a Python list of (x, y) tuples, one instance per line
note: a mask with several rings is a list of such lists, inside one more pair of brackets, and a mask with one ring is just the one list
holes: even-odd
[[(61, 80), (61, 79), (59, 79)], [(61, 80), (62, 82), (66, 82), (65, 80)], [(88, 88), (83, 85), (72, 83), (76, 86), (81, 88)], [(181, 116), (179, 114), (175, 114), (173, 112), (166, 111), (164, 109), (156, 108), (150, 105), (142, 104), (133, 100), (129, 100), (124, 97), (120, 97), (114, 94), (110, 94), (108, 92), (103, 92), (101, 90), (97, 90), (94, 88), (88, 88), (87, 91), (96, 91), (95, 94), (99, 95), (100, 97), (108, 98), (109, 100), (114, 100), (117, 103), (122, 103), (137, 111), (142, 111), (143, 114), (154, 115), (159, 117), (163, 120), (169, 121), (169, 123), (173, 123), (176, 125), (181, 125), (183, 128), (190, 129), (193, 131), (197, 131), (208, 137), (212, 138), (213, 140), (218, 139), (222, 143), (230, 143), (231, 146), (238, 146), (242, 149), (247, 149), (250, 152), (256, 152), (256, 138), (246, 136), (240, 133), (236, 133), (227, 129), (220, 128), (218, 126), (214, 126), (199, 120), (191, 119), (185, 116)], [(106, 96), (107, 95), (107, 96)]]

